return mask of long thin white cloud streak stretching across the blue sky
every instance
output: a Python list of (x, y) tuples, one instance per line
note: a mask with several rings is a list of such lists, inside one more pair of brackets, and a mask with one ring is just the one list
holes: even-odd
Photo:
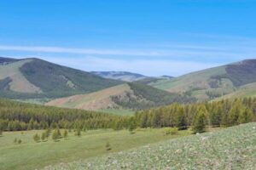
[[(253, 48), (254, 49), (254, 48)], [(234, 50), (234, 49), (233, 49)], [(125, 56), (166, 56), (166, 57), (240, 57), (244, 51), (233, 51), (230, 48), (205, 46), (170, 46), (165, 49), (91, 49), (91, 48), (61, 48), (43, 46), (9, 46), (0, 45), (0, 51), (52, 53), (52, 54), (89, 54), (89, 55), (125, 55)], [(248, 49), (247, 49), (248, 50)], [(246, 53), (247, 54), (247, 53)], [(249, 53), (251, 54), (251, 53)], [(253, 51), (255, 54), (255, 51)], [(252, 54), (251, 54), (252, 55)]]

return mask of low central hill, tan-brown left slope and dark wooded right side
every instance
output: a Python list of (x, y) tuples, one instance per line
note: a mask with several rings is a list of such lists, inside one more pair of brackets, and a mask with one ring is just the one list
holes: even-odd
[[(55, 105), (67, 108), (77, 108), (84, 110), (101, 110), (124, 113), (124, 109), (140, 110), (159, 105), (169, 105), (173, 102), (187, 103), (193, 101), (192, 98), (171, 94), (166, 91), (152, 88), (140, 83), (125, 83), (112, 88), (103, 89), (91, 94), (74, 95), (67, 98), (54, 99), (46, 105)], [(109, 111), (108, 111), (109, 110)]]

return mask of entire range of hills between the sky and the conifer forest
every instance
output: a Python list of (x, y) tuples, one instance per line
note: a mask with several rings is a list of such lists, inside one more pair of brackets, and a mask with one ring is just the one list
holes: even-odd
[(93, 111), (137, 111), (173, 102), (256, 94), (256, 59), (181, 77), (79, 71), (43, 59), (0, 58), (0, 97)]

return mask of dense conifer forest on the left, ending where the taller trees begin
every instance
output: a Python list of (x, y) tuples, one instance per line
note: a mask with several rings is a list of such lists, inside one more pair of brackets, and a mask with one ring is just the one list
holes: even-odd
[(127, 128), (130, 117), (0, 99), (0, 131), (66, 128)]

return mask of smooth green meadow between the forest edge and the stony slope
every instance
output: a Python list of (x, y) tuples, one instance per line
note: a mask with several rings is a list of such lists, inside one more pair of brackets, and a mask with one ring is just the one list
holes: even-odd
[[(102, 156), (134, 147), (189, 135), (180, 131), (177, 135), (164, 135), (165, 129), (138, 129), (136, 133), (127, 130), (93, 130), (82, 133), (81, 137), (69, 133), (68, 139), (54, 142), (35, 143), (32, 136), (44, 131), (5, 132), (0, 137), (0, 169), (35, 169), (59, 162), (77, 161), (93, 156)], [(21, 139), (21, 144), (14, 140)], [(111, 150), (106, 150), (109, 142)]]

